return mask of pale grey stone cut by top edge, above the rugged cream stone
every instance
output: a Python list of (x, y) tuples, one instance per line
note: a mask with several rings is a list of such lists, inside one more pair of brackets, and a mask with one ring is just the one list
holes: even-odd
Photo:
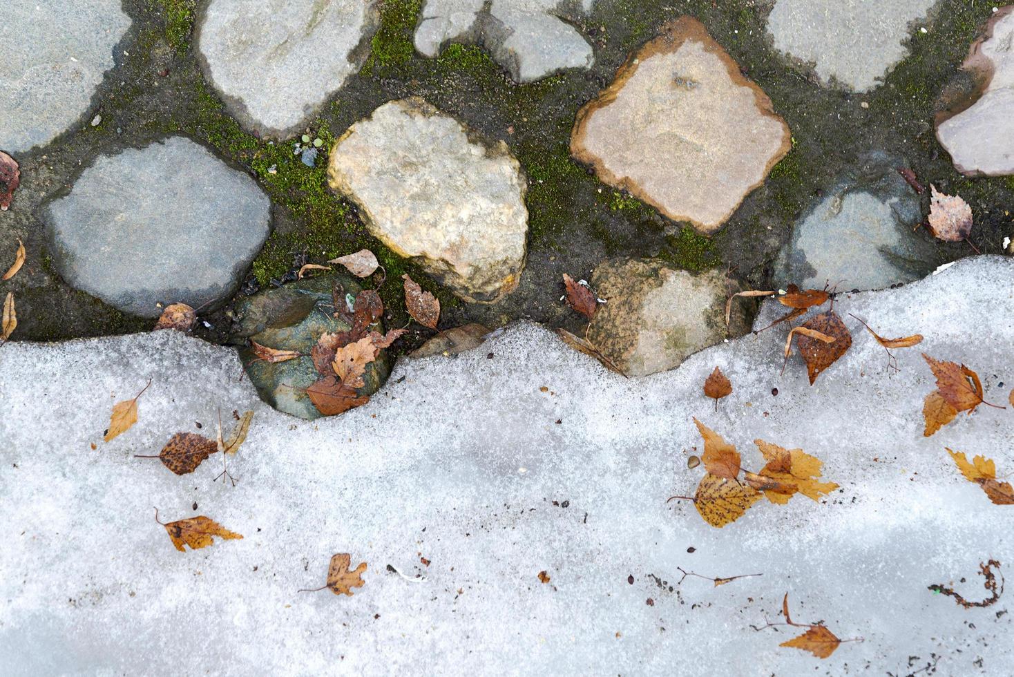
[(229, 112), (273, 138), (300, 131), (359, 70), (374, 0), (211, 0), (197, 45)]

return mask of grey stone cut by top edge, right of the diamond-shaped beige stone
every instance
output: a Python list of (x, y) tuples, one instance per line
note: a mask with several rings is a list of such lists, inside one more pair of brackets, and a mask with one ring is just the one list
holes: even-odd
[(814, 64), (823, 82), (869, 91), (908, 54), (914, 21), (937, 0), (778, 0), (768, 18), (775, 49)]

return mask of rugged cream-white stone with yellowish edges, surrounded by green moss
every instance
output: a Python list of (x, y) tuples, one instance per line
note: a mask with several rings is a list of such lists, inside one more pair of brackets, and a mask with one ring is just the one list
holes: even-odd
[(526, 183), (505, 143), (469, 135), (421, 98), (389, 101), (338, 140), (328, 173), (395, 253), (466, 301), (495, 301), (524, 266)]

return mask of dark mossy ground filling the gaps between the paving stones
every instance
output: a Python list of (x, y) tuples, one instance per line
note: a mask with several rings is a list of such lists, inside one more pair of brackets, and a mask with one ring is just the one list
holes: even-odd
[[(595, 48), (589, 71), (567, 71), (526, 85), (513, 83), (489, 55), (472, 45), (448, 45), (436, 59), (413, 48), (421, 0), (383, 0), (380, 25), (361, 72), (351, 78), (305, 133), (320, 138), (321, 153), (307, 167), (293, 153), (296, 139), (271, 143), (242, 130), (205, 81), (193, 45), (195, 0), (126, 0), (135, 28), (122, 50), (130, 53), (106, 78), (94, 112), (102, 123), (78, 129), (22, 162), (28, 214), (9, 227), (40, 252), (45, 241), (31, 211), (55, 186), (71, 181), (95, 153), (143, 145), (159, 135), (185, 133), (213, 146), (256, 176), (275, 204), (275, 231), (254, 261), (258, 285), (291, 277), (303, 261), (323, 262), (361, 247), (372, 249), (387, 272), (381, 287), (390, 321), (404, 324), (400, 276), (409, 273), (436, 293), (446, 324), (497, 325), (528, 317), (580, 329), (559, 302), (561, 276), (587, 278), (611, 256), (659, 257), (693, 271), (721, 268), (745, 286), (764, 286), (796, 217), (835, 176), (864, 152), (882, 148), (904, 155), (920, 179), (958, 193), (972, 206), (980, 250), (999, 252), (1014, 231), (1014, 178), (965, 178), (937, 143), (937, 97), (957, 72), (992, 6), (942, 0), (928, 32), (910, 40), (911, 55), (869, 94), (820, 86), (805, 66), (772, 51), (765, 23), (770, 0), (598, 0), (589, 16), (570, 18)], [(599, 182), (569, 152), (577, 110), (611, 80), (628, 54), (681, 14), (701, 19), (743, 72), (771, 96), (792, 129), (793, 146), (729, 222), (713, 237), (665, 219), (632, 196)], [(519, 288), (495, 305), (464, 304), (435, 286), (412, 261), (369, 235), (354, 205), (327, 185), (327, 150), (334, 139), (384, 101), (419, 95), (467, 123), (481, 136), (507, 143), (528, 179), (528, 259)], [(866, 106), (863, 106), (863, 103)], [(93, 112), (89, 111), (90, 120)], [(951, 257), (970, 253), (938, 244)], [(18, 289), (21, 338), (63, 338), (141, 330), (145, 322), (64, 286), (52, 267), (26, 266)], [(247, 285), (247, 289), (256, 285)], [(206, 317), (202, 335), (225, 341), (226, 312)], [(59, 318), (59, 319), (55, 319)], [(410, 334), (406, 347), (427, 331)]]

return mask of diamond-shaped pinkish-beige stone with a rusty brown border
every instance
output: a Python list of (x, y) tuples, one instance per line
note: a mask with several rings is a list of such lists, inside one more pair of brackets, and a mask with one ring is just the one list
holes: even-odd
[(571, 152), (606, 183), (710, 233), (789, 151), (789, 128), (700, 21), (662, 31), (581, 108)]

